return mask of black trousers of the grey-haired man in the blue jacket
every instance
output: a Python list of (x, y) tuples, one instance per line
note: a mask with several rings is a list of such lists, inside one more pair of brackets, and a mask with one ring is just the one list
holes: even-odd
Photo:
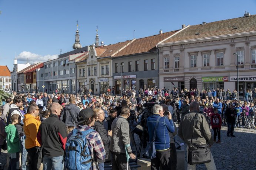
[(171, 168), (170, 149), (157, 150), (156, 157), (151, 159), (151, 170), (159, 170), (160, 166), (163, 170)]

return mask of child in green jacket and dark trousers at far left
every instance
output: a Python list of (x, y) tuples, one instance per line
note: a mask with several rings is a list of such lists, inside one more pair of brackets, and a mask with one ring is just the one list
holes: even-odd
[(12, 123), (4, 128), (7, 133), (7, 151), (10, 159), (8, 170), (18, 170), (20, 165), (20, 136), (16, 129), (17, 124), (20, 124), (21, 116), (14, 114), (11, 116)]

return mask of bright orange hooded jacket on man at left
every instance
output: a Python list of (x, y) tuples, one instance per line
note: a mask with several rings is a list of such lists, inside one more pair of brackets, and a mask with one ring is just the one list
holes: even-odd
[(34, 117), (31, 114), (24, 115), (24, 133), (26, 135), (25, 139), (25, 148), (30, 149), (35, 146), (40, 146), (39, 142), (36, 139), (37, 131), (39, 129), (39, 126), (41, 124), (40, 117)]

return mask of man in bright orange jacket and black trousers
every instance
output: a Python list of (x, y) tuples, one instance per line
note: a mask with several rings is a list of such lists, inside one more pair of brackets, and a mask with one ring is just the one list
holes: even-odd
[(37, 131), (39, 125), (41, 124), (39, 117), (39, 108), (35, 104), (29, 105), (27, 109), (27, 114), (24, 115), (24, 133), (26, 135), (25, 148), (29, 153), (29, 170), (38, 170), (41, 161), (38, 161), (37, 149), (40, 147), (39, 142), (36, 139)]

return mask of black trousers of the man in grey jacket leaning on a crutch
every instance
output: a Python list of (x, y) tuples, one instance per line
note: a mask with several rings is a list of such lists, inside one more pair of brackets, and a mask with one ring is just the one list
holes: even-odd
[[(112, 152), (112, 169), (113, 170), (126, 170), (127, 169), (127, 160), (125, 153), (115, 153)], [(130, 166), (128, 163), (128, 170), (130, 170)]]

